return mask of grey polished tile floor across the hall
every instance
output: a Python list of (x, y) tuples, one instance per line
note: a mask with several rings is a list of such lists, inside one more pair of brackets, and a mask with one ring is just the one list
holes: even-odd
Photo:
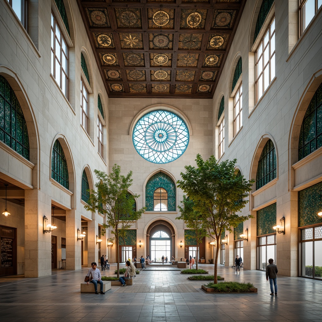
[[(116, 268), (102, 275), (113, 275)], [(213, 273), (213, 265), (199, 265)], [(270, 295), (265, 272), (218, 267), (225, 280), (251, 281), (258, 294), (206, 294), (201, 282), (171, 267), (148, 267), (133, 286), (105, 295), (80, 293), (88, 268), (53, 270), (52, 276), (0, 278), (0, 321), (106, 322), (322, 322), (322, 281), (278, 276), (278, 295)]]

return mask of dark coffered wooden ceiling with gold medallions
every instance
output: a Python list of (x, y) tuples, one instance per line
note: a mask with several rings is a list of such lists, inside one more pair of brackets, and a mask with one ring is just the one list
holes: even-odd
[(246, 0), (77, 0), (109, 97), (212, 98)]

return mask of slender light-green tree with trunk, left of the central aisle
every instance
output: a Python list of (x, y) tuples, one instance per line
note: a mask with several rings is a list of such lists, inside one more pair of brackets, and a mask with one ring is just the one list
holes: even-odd
[[(126, 176), (121, 175), (121, 167), (115, 164), (112, 172), (107, 175), (103, 171), (94, 170), (98, 182), (95, 184), (95, 190), (92, 190), (86, 210), (106, 214), (106, 224), (101, 227), (101, 234), (104, 235), (106, 229), (112, 228), (116, 242), (116, 259), (119, 271), (119, 243), (118, 239), (126, 234), (133, 223), (141, 218), (145, 207), (135, 211), (133, 205), (134, 198), (138, 198), (138, 194), (128, 194), (128, 188), (132, 185), (132, 171)], [(105, 208), (102, 208), (105, 205)], [(119, 273), (118, 273), (119, 277)]]

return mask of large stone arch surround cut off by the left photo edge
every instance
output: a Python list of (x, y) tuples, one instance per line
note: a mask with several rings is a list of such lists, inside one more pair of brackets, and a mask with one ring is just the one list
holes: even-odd
[(24, 114), (24, 119), (26, 122), (29, 138), (29, 161), (34, 164), (33, 168), (33, 187), (40, 188), (40, 140), (39, 140), (39, 130), (37, 127), (36, 117), (33, 112), (32, 104), (28, 98), (27, 91), (24, 88), (23, 83), (20, 81), (18, 75), (11, 69), (0, 66), (0, 75), (5, 78), (9, 83), (14, 94), (16, 95), (22, 112)]

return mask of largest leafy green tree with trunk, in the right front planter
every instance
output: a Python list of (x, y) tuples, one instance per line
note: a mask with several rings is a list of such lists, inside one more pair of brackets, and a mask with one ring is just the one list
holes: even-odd
[(217, 284), (217, 264), (222, 232), (251, 218), (238, 213), (248, 203), (244, 200), (249, 195), (253, 180), (248, 181), (235, 173), (236, 159), (217, 163), (214, 156), (204, 161), (200, 154), (196, 158), (196, 166), (185, 166), (178, 180), (178, 187), (194, 202), (195, 212), (202, 214), (209, 236), (216, 240), (216, 256), (214, 262), (214, 284)]

